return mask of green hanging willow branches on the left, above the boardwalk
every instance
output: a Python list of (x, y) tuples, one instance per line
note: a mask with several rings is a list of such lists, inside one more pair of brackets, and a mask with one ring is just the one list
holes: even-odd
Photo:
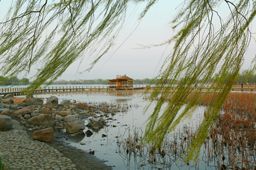
[(129, 2), (16, 0), (0, 22), (0, 74), (12, 80), (21, 72), (27, 75), (34, 65), (37, 73), (30, 87), (36, 89), (96, 52), (90, 70), (114, 45)]

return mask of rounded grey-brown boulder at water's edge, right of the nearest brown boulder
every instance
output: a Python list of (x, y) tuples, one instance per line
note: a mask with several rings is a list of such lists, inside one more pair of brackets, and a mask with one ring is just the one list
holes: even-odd
[(81, 119), (73, 118), (66, 122), (66, 131), (68, 133), (77, 133), (79, 130), (83, 130), (86, 127)]

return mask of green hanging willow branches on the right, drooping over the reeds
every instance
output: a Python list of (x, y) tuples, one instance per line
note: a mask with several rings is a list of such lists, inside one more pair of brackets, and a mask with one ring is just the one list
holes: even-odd
[[(225, 22), (215, 10), (221, 3), (226, 4), (231, 13)], [(229, 1), (192, 0), (177, 15), (173, 25), (174, 28), (182, 25), (181, 29), (166, 41), (175, 42), (175, 46), (155, 79), (157, 88), (144, 110), (159, 98), (153, 114), (147, 120), (144, 141), (155, 142), (156, 147), (161, 145), (165, 135), (175, 130), (179, 122), (190, 115), (198, 101), (213, 93), (214, 97), (206, 108), (186, 161), (198, 158), (210, 126), (215, 122), (226, 96), (236, 83), (250, 42), (249, 25), (256, 14), (255, 7), (255, 2), (252, 1), (241, 0), (234, 5)], [(220, 29), (217, 31), (212, 21), (216, 16), (220, 20)], [(202, 93), (200, 86), (210, 82), (217, 72), (218, 76), (215, 76), (210, 85), (212, 88), (217, 84), (217, 87), (213, 91)], [(177, 83), (180, 86), (174, 90)], [(199, 88), (191, 89), (195, 83)], [(160, 115), (166, 101), (168, 104)], [(178, 115), (182, 107), (185, 109)]]

